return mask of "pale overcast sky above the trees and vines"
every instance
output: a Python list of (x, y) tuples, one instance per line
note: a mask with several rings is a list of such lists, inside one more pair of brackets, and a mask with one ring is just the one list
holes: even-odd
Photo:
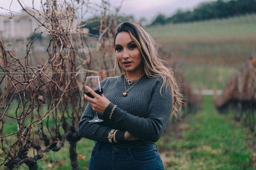
[[(20, 0), (25, 6), (32, 6), (33, 0)], [(35, 7), (40, 9), (40, 0), (34, 0)], [(60, 0), (58, 0), (60, 1)], [(62, 0), (63, 1), (63, 0)], [(82, 1), (82, 0), (80, 0)], [(100, 0), (92, 0), (97, 4), (100, 4)], [(112, 6), (119, 6), (121, 0), (109, 0)], [(136, 20), (144, 17), (147, 20), (152, 20), (157, 14), (163, 13), (166, 16), (173, 15), (175, 11), (181, 10), (191, 10), (198, 6), (198, 4), (208, 1), (216, 0), (124, 0), (122, 7), (120, 9), (120, 14), (133, 15)], [(10, 7), (11, 0), (0, 0), (0, 13), (8, 13), (9, 9), (15, 12), (20, 12), (20, 4), (17, 0), (12, 0), (12, 5)], [(14, 13), (15, 14), (15, 13)], [(1, 16), (0, 16), (1, 17)]]

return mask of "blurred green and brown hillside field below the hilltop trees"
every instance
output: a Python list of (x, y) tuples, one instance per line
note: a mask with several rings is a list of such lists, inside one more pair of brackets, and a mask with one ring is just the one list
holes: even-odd
[(255, 53), (255, 14), (146, 29), (196, 89), (222, 89)]

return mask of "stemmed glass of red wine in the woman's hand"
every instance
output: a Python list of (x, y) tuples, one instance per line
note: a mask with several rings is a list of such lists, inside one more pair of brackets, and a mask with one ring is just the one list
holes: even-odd
[[(90, 87), (95, 93), (99, 95), (103, 93), (100, 83), (100, 76), (87, 76), (85, 80), (85, 85)], [(90, 92), (88, 92), (87, 90), (85, 91), (85, 94), (89, 97), (94, 98), (92, 94), (90, 94)], [(103, 120), (98, 118), (97, 112), (95, 112), (94, 118), (92, 120), (89, 120), (89, 122), (98, 123), (103, 122)]]

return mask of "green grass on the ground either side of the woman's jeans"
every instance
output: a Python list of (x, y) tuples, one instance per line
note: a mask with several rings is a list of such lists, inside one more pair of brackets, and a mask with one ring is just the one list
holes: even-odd
[[(253, 143), (255, 138), (230, 120), (228, 115), (217, 113), (211, 96), (205, 96), (201, 111), (175, 124), (179, 131), (168, 127), (170, 130), (157, 142), (165, 169), (253, 169), (253, 151), (246, 140)], [(84, 138), (77, 143), (77, 154), (86, 156), (84, 160), (78, 157), (81, 169), (88, 167), (93, 145), (94, 141)], [(72, 169), (68, 150), (66, 142), (59, 152), (45, 153), (38, 160), (38, 169)], [(33, 156), (32, 151), (29, 156)], [(19, 169), (27, 167), (22, 166)]]

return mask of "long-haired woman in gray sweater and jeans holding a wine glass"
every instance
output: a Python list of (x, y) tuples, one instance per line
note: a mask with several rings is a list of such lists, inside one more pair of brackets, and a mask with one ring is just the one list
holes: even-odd
[[(84, 96), (89, 104), (78, 134), (97, 141), (89, 169), (164, 169), (153, 144), (163, 134), (170, 113), (179, 110), (181, 96), (173, 73), (157, 57), (154, 39), (139, 25), (120, 24), (114, 41), (122, 76), (102, 81), (102, 96), (89, 87), (94, 98)], [(88, 122), (94, 111), (104, 122)]]

